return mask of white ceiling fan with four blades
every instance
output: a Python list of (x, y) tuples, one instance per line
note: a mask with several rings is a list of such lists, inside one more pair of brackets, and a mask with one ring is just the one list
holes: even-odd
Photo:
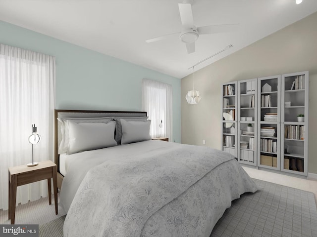
[(235, 30), (239, 24), (226, 24), (226, 25), (210, 25), (203, 27), (196, 27), (194, 25), (193, 12), (191, 3), (178, 3), (180, 20), (182, 22), (182, 31), (165, 36), (157, 37), (154, 39), (146, 40), (147, 43), (165, 40), (169, 36), (180, 34), (179, 38), (186, 44), (187, 53), (195, 52), (195, 41), (199, 35), (216, 34), (223, 32), (230, 32)]

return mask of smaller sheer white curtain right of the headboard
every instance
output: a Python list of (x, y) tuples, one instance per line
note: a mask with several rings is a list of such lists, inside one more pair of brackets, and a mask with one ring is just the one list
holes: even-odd
[(168, 137), (169, 141), (173, 141), (172, 85), (143, 79), (142, 110), (152, 120), (150, 135)]

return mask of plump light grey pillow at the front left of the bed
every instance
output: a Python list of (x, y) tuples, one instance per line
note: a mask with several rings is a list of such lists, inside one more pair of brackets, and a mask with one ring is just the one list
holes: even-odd
[(116, 146), (114, 140), (115, 121), (108, 123), (67, 120), (69, 145), (67, 154)]

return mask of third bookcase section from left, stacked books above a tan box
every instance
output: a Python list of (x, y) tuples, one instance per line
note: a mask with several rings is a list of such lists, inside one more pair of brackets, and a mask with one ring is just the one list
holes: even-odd
[(280, 170), (281, 76), (258, 79), (258, 166)]

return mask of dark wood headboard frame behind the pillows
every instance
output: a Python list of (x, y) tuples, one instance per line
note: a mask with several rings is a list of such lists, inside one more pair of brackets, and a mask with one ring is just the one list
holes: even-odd
[(147, 112), (137, 111), (96, 111), (96, 110), (55, 110), (54, 113), (54, 162), (57, 164), (57, 186), (60, 189), (63, 176), (59, 173), (58, 145), (60, 139), (60, 123), (57, 118), (91, 118), (91, 117), (143, 117)]

